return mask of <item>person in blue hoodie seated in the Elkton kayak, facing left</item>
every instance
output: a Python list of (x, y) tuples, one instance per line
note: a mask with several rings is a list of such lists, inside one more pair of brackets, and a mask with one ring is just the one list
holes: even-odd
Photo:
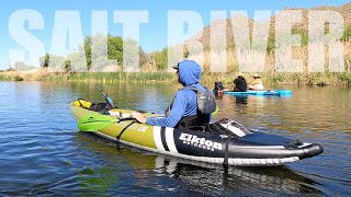
[(211, 114), (197, 113), (197, 94), (195, 88), (200, 91), (206, 89), (200, 84), (202, 68), (193, 60), (180, 61), (176, 67), (178, 82), (184, 88), (180, 89), (169, 106), (165, 117), (145, 117), (143, 114), (133, 112), (132, 116), (139, 123), (173, 128), (191, 128), (210, 123)]

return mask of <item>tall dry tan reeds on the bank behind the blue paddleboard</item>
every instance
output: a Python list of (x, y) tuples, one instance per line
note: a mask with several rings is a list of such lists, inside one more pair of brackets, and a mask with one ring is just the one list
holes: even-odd
[[(319, 46), (318, 43), (313, 45)], [(285, 83), (285, 84), (350, 84), (349, 78), (351, 72), (351, 40), (347, 40), (343, 43), (343, 53), (344, 53), (344, 72), (330, 72), (329, 71), (329, 50), (328, 47), (320, 45), (322, 51), (326, 54), (314, 53), (313, 56), (316, 59), (325, 59), (326, 66), (324, 71), (321, 72), (312, 72), (309, 71), (309, 61), (308, 61), (308, 46), (301, 46), (295, 48), (280, 48), (275, 49), (272, 53), (264, 54), (263, 51), (250, 51), (241, 50), (236, 51), (235, 49), (227, 50), (226, 57), (226, 70), (219, 73), (211, 73), (211, 58), (213, 58), (214, 62), (223, 61), (223, 57), (215, 55), (211, 56), (211, 53), (205, 51), (197, 55), (190, 55), (189, 59), (196, 60), (204, 68), (204, 83), (212, 83), (214, 81), (223, 81), (225, 83), (229, 83), (235, 78), (235, 72), (240, 70), (240, 66), (238, 65), (238, 55), (244, 58), (244, 65), (246, 68), (253, 67), (256, 62), (265, 58), (264, 69), (261, 72), (263, 77), (263, 81), (267, 83)], [(302, 70), (299, 72), (279, 72), (278, 65), (284, 66), (287, 70), (293, 69), (291, 58), (286, 58), (284, 56), (287, 50), (292, 50), (292, 57), (294, 59), (301, 60)], [(278, 51), (282, 53), (283, 56), (276, 56)], [(313, 53), (313, 51), (312, 51)], [(314, 62), (312, 62), (314, 63)], [(313, 66), (313, 65), (312, 65)], [(247, 72), (247, 79), (251, 79), (251, 72)]]

